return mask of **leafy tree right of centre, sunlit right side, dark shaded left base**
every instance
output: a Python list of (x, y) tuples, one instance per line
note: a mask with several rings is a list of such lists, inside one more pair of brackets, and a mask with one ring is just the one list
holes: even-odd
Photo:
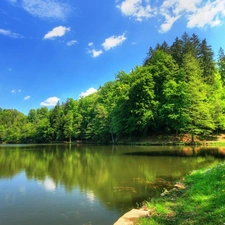
[(157, 106), (155, 100), (155, 82), (148, 67), (136, 67), (130, 74), (132, 83), (126, 101), (128, 115), (126, 132), (144, 132), (146, 134), (154, 119)]

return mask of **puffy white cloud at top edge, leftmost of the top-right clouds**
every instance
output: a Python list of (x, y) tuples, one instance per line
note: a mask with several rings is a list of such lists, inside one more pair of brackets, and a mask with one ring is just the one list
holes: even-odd
[(148, 0), (125, 0), (117, 5), (125, 16), (134, 17), (138, 21), (143, 18), (150, 18), (154, 15), (154, 9)]

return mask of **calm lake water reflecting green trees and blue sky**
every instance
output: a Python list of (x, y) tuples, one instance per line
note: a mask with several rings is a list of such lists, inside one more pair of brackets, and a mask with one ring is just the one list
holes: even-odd
[(0, 145), (1, 225), (111, 225), (225, 148)]

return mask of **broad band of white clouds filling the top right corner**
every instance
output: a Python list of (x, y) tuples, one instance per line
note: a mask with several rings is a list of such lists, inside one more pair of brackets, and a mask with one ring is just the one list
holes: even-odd
[[(124, 16), (135, 20), (162, 18), (160, 33), (168, 32), (173, 24), (182, 19), (187, 28), (206, 28), (221, 25), (225, 20), (224, 0), (116, 0), (116, 6)], [(153, 5), (154, 4), (154, 5)], [(157, 4), (157, 7), (156, 7)]]

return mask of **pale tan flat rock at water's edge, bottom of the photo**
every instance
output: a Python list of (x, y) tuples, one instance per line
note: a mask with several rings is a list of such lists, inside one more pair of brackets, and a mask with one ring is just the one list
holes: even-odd
[(149, 211), (143, 209), (132, 209), (120, 217), (114, 225), (133, 225), (134, 222), (142, 216), (149, 216)]

